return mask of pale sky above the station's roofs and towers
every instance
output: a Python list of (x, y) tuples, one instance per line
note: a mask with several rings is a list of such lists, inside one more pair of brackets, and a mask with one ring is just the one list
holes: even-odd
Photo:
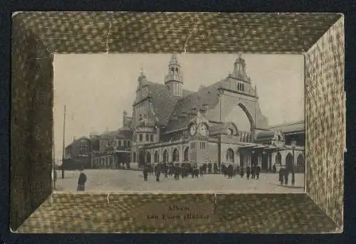
[[(238, 54), (177, 54), (183, 88), (197, 91), (222, 80), (234, 70)], [(303, 55), (248, 54), (246, 73), (256, 84), (261, 112), (268, 124), (304, 120)], [(137, 77), (164, 83), (171, 54), (55, 54), (54, 147), (61, 157), (66, 105), (66, 145), (73, 138), (102, 133), (122, 126), (122, 112), (132, 113)]]

